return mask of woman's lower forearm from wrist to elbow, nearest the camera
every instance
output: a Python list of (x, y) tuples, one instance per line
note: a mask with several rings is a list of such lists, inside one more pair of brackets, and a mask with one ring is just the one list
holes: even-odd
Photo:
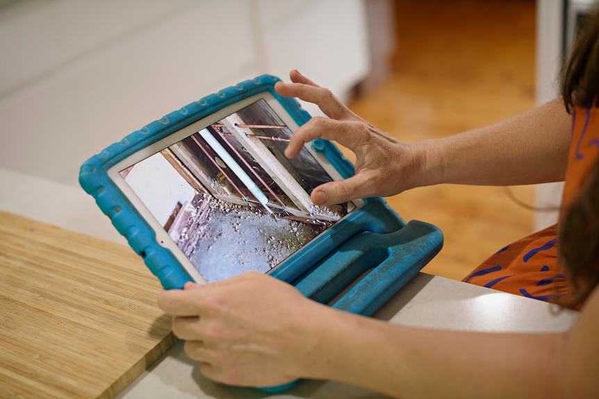
[[(337, 315), (336, 317), (338, 317)], [(347, 315), (350, 316), (350, 315)], [(490, 334), (331, 318), (311, 377), (397, 398), (560, 397), (562, 334)], [(343, 328), (340, 328), (343, 326)], [(323, 326), (326, 328), (326, 326)]]

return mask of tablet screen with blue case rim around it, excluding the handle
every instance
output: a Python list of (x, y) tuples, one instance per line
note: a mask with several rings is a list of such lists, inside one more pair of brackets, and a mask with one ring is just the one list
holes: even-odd
[(363, 205), (311, 201), (315, 187), (347, 176), (313, 143), (284, 155), (304, 120), (269, 83), (188, 105), (83, 165), (81, 185), (163, 286), (271, 273)]

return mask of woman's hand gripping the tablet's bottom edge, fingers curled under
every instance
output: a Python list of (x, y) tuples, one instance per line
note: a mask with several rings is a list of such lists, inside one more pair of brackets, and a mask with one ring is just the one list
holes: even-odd
[(318, 345), (316, 314), (325, 308), (293, 286), (257, 272), (208, 285), (162, 291), (174, 334), (202, 362), (200, 371), (230, 385), (270, 387), (305, 377)]

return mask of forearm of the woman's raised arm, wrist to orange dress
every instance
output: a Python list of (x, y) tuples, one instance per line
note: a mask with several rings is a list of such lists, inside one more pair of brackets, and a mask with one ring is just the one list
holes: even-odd
[(422, 185), (521, 185), (564, 179), (571, 116), (561, 99), (496, 124), (415, 143)]

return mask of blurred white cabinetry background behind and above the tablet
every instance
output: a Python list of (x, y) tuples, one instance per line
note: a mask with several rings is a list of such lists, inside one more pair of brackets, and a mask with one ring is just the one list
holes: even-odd
[(91, 155), (261, 74), (297, 68), (344, 98), (368, 74), (367, 42), (361, 0), (8, 3), (0, 168), (77, 185)]

